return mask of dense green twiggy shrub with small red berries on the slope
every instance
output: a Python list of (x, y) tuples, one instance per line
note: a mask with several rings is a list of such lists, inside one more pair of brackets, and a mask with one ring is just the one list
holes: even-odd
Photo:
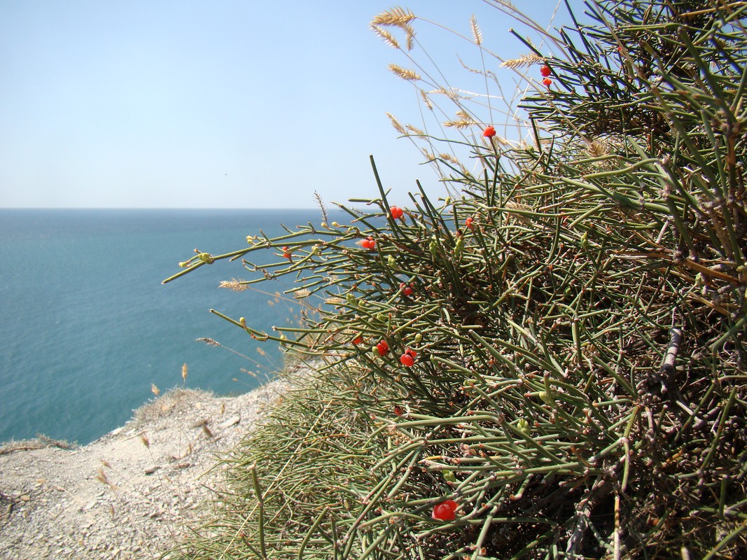
[[(176, 553), (747, 554), (746, 10), (590, 2), (592, 24), (554, 38), (562, 57), (527, 40), (552, 71), (522, 101), (533, 144), (482, 137), (459, 105), (483, 168), (433, 156), (455, 196), (418, 184), (398, 217), (374, 166), (380, 197), (340, 205), (348, 225), (188, 261), (176, 276), (223, 258), (258, 272), (245, 283), (293, 274), (325, 305), (273, 333), (226, 317), (316, 370)], [(265, 249), (278, 261), (255, 267)], [(434, 519), (445, 500), (455, 518)]]

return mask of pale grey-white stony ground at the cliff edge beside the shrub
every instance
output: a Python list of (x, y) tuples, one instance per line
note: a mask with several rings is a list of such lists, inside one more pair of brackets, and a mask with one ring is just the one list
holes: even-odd
[(271, 382), (235, 397), (171, 391), (85, 447), (5, 444), (0, 559), (158, 558), (220, 484), (216, 456), (282, 388)]

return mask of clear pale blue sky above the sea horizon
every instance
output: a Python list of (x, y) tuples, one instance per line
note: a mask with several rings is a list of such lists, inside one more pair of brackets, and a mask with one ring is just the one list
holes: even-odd
[[(369, 154), (405, 202), (436, 175), (385, 116), (419, 119), (387, 69), (411, 65), (368, 28), (398, 4), (465, 34), (475, 13), (489, 49), (527, 52), (481, 0), (2, 1), (0, 207), (311, 208), (376, 196)], [(548, 24), (557, 0), (522, 4)], [(456, 84), (457, 54), (479, 62), (415, 27)]]

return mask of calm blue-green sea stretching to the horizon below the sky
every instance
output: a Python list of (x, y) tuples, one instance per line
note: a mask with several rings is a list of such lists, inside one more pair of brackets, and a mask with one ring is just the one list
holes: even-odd
[(154, 388), (232, 395), (271, 379), (279, 346), (209, 310), (262, 331), (298, 326), (300, 305), (283, 293), (294, 279), (221, 289), (258, 275), (226, 259), (161, 281), (194, 249), (220, 255), (247, 247), (247, 235), (321, 221), (314, 209), (0, 209), (0, 442), (42, 434), (83, 445), (123, 426)]

